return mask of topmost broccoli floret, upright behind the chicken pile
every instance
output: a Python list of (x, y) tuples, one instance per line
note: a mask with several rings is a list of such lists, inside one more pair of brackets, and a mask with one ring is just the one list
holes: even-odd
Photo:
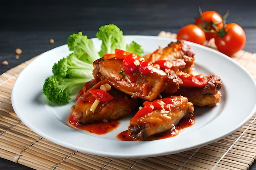
[(101, 57), (107, 53), (115, 53), (115, 49), (126, 49), (123, 31), (114, 24), (101, 26), (96, 37), (102, 40), (101, 51), (99, 51)]

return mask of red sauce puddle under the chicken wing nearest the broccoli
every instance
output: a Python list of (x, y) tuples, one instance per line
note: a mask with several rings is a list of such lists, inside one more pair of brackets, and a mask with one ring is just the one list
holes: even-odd
[(74, 126), (75, 128), (78, 128), (80, 130), (85, 130), (97, 135), (103, 135), (108, 132), (111, 132), (115, 130), (120, 124), (120, 122), (118, 121), (99, 122), (99, 123), (93, 123), (93, 124), (79, 124), (73, 119), (71, 114), (68, 118), (68, 122), (70, 125)]

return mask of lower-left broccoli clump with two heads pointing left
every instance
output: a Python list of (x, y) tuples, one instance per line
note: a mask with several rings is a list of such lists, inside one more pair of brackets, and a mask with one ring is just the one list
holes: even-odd
[(83, 85), (93, 79), (93, 65), (70, 53), (52, 66), (54, 75), (45, 79), (43, 94), (55, 104), (64, 105), (75, 97)]

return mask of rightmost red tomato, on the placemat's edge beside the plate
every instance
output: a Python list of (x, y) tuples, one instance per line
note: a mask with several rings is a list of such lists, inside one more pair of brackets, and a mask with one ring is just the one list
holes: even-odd
[(231, 56), (245, 46), (245, 31), (236, 23), (226, 24), (225, 31), (220, 32), (220, 35), (214, 40), (220, 52)]

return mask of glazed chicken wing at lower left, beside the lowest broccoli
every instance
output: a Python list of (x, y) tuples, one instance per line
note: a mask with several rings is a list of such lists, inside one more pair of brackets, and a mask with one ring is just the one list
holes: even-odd
[(99, 102), (94, 111), (90, 110), (95, 98), (88, 92), (83, 93), (71, 108), (72, 117), (79, 124), (107, 122), (117, 120), (130, 113), (137, 106), (137, 99), (111, 88), (109, 93), (114, 99)]

